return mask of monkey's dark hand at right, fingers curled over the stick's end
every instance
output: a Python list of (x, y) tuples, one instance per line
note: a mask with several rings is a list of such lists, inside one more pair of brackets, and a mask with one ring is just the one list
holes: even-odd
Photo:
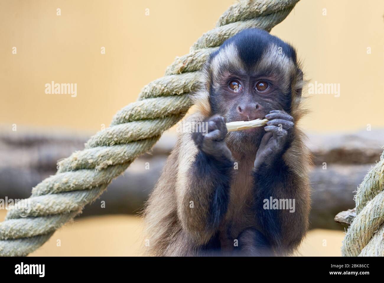
[(290, 133), (295, 125), (293, 117), (284, 111), (273, 110), (265, 116), (269, 121), (264, 127), (264, 134), (256, 153), (255, 169), (264, 165), (269, 167), (280, 158), (287, 148)]

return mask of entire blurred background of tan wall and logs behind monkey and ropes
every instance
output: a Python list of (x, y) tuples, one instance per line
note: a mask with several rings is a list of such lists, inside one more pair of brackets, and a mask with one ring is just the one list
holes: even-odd
[[(108, 127), (232, 3), (3, 0), (0, 199), (27, 198), (33, 186), (55, 174), (58, 159)], [(311, 113), (301, 127), (314, 154), (313, 209), (312, 229), (298, 255), (340, 255), (346, 226), (333, 217), (354, 207), (353, 191), (382, 152), (383, 14), (381, 0), (301, 0), (271, 31), (296, 47), (310, 84), (338, 89), (313, 93), (309, 85), (304, 92)], [(46, 94), (51, 81), (77, 84), (76, 97)], [(137, 159), (81, 217), (31, 255), (140, 255), (137, 213), (174, 141), (170, 129), (151, 154)], [(0, 209), (0, 220), (5, 214)]]

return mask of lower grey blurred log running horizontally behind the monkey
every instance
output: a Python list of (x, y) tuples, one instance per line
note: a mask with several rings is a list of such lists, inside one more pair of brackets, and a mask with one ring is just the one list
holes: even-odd
[[(157, 182), (167, 156), (141, 157), (134, 161), (124, 175), (113, 180), (100, 199), (86, 206), (83, 216), (96, 214), (137, 213)], [(149, 170), (146, 170), (149, 162)], [(342, 229), (333, 218), (339, 211), (354, 206), (356, 190), (369, 166), (314, 167), (311, 171), (311, 228)], [(0, 198), (27, 198), (33, 186), (55, 171), (41, 174), (34, 169), (0, 168)], [(100, 201), (106, 202), (101, 208)]]

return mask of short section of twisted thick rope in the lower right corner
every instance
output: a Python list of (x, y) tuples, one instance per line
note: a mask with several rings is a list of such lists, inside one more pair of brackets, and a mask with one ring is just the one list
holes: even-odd
[(384, 256), (384, 152), (355, 195), (356, 218), (343, 241), (343, 256)]

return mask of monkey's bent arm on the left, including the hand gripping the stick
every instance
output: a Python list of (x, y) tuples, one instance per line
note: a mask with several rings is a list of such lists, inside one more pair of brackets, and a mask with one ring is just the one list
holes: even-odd
[[(188, 147), (180, 149), (181, 168), (178, 173), (177, 212), (182, 227), (198, 244), (205, 244), (217, 231), (227, 212), (230, 183), (232, 180), (232, 154), (225, 145), (227, 133), (222, 117), (207, 121), (208, 134), (201, 131), (189, 137)], [(187, 142), (185, 142), (187, 144)], [(189, 154), (193, 159), (188, 162)]]

